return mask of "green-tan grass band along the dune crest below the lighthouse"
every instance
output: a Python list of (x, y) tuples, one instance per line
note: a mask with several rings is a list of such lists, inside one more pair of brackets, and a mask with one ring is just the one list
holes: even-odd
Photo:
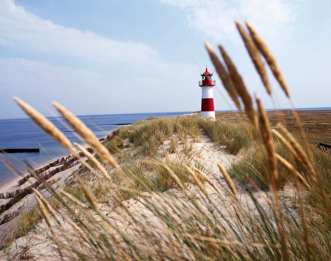
[[(123, 141), (128, 138), (137, 148), (147, 156), (155, 156), (158, 147), (163, 141), (171, 136), (171, 150), (175, 151), (177, 143), (176, 137), (172, 136), (178, 133), (179, 139), (185, 143), (187, 137), (199, 139), (202, 131), (208, 134), (216, 145), (225, 147), (225, 150), (231, 154), (237, 155), (238, 159), (231, 164), (229, 174), (232, 178), (240, 177), (243, 183), (252, 183), (260, 189), (267, 189), (267, 177), (270, 171), (267, 164), (266, 152), (260, 141), (260, 136), (256, 129), (246, 122), (226, 122), (223, 120), (209, 121), (195, 117), (170, 117), (144, 121), (137, 126), (117, 129), (117, 135), (105, 146), (111, 153), (119, 152), (123, 148)], [(315, 146), (304, 143), (300, 136), (294, 134), (296, 140), (308, 155), (312, 152), (315, 167), (324, 177), (323, 184), (328, 183), (328, 177), (331, 177), (331, 157), (327, 151), (322, 151)], [(290, 161), (290, 154), (284, 145), (273, 135), (273, 144), (276, 153), (282, 158)], [(241, 153), (240, 153), (241, 152)], [(304, 173), (305, 178), (309, 180), (308, 175), (300, 167), (298, 162), (294, 166), (299, 173)], [(85, 168), (87, 170), (87, 168)], [(283, 189), (284, 186), (294, 181), (290, 171), (284, 168), (280, 163), (277, 164), (278, 180), (275, 184), (276, 189)], [(328, 193), (331, 195), (330, 193)]]

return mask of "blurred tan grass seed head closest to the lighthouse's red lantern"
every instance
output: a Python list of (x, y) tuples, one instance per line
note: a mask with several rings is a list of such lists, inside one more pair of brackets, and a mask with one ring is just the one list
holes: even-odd
[(224, 66), (222, 65), (221, 61), (218, 59), (218, 57), (214, 53), (210, 44), (208, 42), (205, 42), (205, 46), (209, 53), (209, 57), (212, 60), (213, 65), (215, 66), (216, 72), (217, 72), (219, 78), (221, 78), (221, 80), (222, 80), (225, 90), (228, 92), (229, 96), (231, 97), (231, 99), (233, 100), (235, 105), (237, 106), (238, 110), (241, 111), (241, 105), (238, 100), (238, 93), (233, 86), (233, 82), (232, 82), (230, 76), (225, 71)]

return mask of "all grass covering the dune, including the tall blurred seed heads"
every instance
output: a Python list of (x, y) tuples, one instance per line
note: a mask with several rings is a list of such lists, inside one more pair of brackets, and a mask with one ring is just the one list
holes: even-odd
[[(248, 32), (239, 23), (237, 27), (271, 98), (262, 56), (290, 97), (263, 40), (250, 25)], [(48, 224), (45, 234), (61, 257), (75, 260), (331, 258), (330, 153), (311, 146), (301, 131), (297, 136), (282, 125), (273, 130), (259, 99), (254, 101), (258, 112), (253, 110), (253, 100), (224, 48), (219, 46), (223, 65), (206, 47), (239, 110), (239, 99), (243, 103), (249, 122), (153, 118), (118, 128), (102, 146), (79, 119), (55, 104), (96, 156), (83, 151), (88, 160), (58, 191), (43, 182), (56, 204), (48, 204), (35, 191), (39, 207), (36, 214), (27, 213), (28, 218), (19, 220), (21, 234), (43, 216)], [(23, 101), (17, 102), (45, 132), (75, 154), (55, 126)], [(294, 114), (301, 126), (298, 119)], [(201, 140), (204, 132), (216, 145), (238, 155), (228, 172), (218, 165), (226, 185), (208, 173), (188, 142), (189, 138)], [(171, 151), (178, 151), (178, 142), (182, 143), (181, 157), (176, 160), (170, 159), (177, 151), (163, 157), (158, 150), (168, 138)], [(240, 182), (240, 194), (230, 177)], [(296, 187), (289, 200), (277, 192), (288, 182)], [(255, 188), (266, 192), (261, 195)], [(30, 221), (30, 217), (35, 219)]]

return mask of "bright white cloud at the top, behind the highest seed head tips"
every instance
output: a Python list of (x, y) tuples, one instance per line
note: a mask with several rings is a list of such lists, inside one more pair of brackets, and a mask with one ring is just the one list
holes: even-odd
[(297, 5), (283, 0), (161, 1), (183, 9), (192, 28), (217, 41), (238, 39), (234, 20), (247, 20), (264, 38), (281, 40), (290, 35), (291, 22), (297, 17)]

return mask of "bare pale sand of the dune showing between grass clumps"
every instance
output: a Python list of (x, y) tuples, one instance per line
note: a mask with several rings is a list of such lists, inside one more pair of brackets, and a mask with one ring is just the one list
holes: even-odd
[[(220, 191), (223, 191), (223, 195), (218, 195), (215, 193), (216, 191), (214, 188), (211, 187), (209, 183), (204, 183), (204, 186), (206, 188), (206, 191), (210, 194), (211, 200), (216, 206), (220, 206), (222, 204), (232, 205), (233, 202), (231, 201), (230, 197), (226, 198), (226, 193), (224, 191), (224, 187), (227, 187), (227, 184), (224, 180), (221, 179), (221, 173), (217, 167), (217, 162), (220, 162), (221, 165), (226, 168), (229, 166), (229, 164), (235, 159), (235, 156), (227, 153), (223, 148), (216, 147), (211, 138), (209, 138), (207, 135), (203, 135), (201, 140), (199, 142), (193, 142), (192, 138), (188, 139), (188, 144), (192, 144), (193, 149), (197, 152), (194, 157), (202, 161), (206, 164), (207, 168), (211, 171), (211, 177), (215, 183), (216, 186)], [(168, 154), (167, 157), (171, 158), (172, 160), (178, 159), (179, 155), (183, 150), (184, 144), (181, 143), (181, 141), (178, 141), (178, 148), (176, 153)], [(170, 147), (170, 140), (166, 140), (163, 145), (159, 147), (159, 152), (164, 153), (165, 151), (169, 150)], [(75, 166), (76, 167), (76, 166)], [(74, 168), (74, 167), (73, 167)], [(68, 170), (69, 171), (69, 170)], [(258, 211), (255, 209), (254, 203), (252, 202), (250, 196), (242, 190), (239, 186), (237, 188), (237, 194), (240, 197), (240, 203), (251, 209), (255, 215), (259, 215)], [(187, 193), (190, 192), (193, 193), (194, 186), (191, 188), (192, 191), (188, 189)], [(179, 196), (179, 201), (183, 204), (191, 204), (190, 201), (187, 200), (184, 196), (181, 197), (183, 194), (181, 191), (177, 191), (176, 189), (171, 189), (172, 192), (177, 194)], [(153, 200), (155, 204), (163, 204), (164, 200), (159, 200), (160, 197), (158, 196), (161, 192), (153, 192), (150, 194), (151, 198), (148, 200)], [(258, 198), (260, 203), (265, 206), (265, 208), (268, 208), (267, 202), (265, 200), (265, 197), (267, 196), (266, 192), (263, 191), (256, 191), (254, 192), (255, 196)], [(163, 196), (165, 193), (162, 194)], [(32, 196), (32, 195), (29, 195)], [(223, 198), (223, 199), (221, 199)], [(30, 201), (30, 199), (29, 199)], [(196, 203), (199, 204), (199, 206), (204, 209), (205, 208), (205, 201), (203, 199), (197, 199)], [(162, 223), (160, 222), (159, 218), (156, 217), (144, 204), (144, 199), (141, 199), (141, 201), (135, 201), (133, 199), (126, 200), (123, 202), (129, 207), (129, 210), (131, 214), (137, 219), (141, 220), (142, 223), (149, 224), (155, 229), (164, 229)], [(32, 199), (31, 203), (32, 204)], [(124, 219), (125, 216), (124, 213), (121, 213), (120, 209), (117, 209), (117, 213), (115, 213), (112, 209), (109, 208), (109, 206), (104, 206), (99, 204), (100, 211), (104, 214), (108, 213), (109, 221), (114, 224), (118, 229), (122, 231), (126, 231), (125, 233), (133, 233), (134, 228), (130, 226), (130, 224), (133, 224), (134, 222), (130, 222), (130, 220)], [(61, 213), (62, 210), (59, 210)], [(171, 212), (171, 210), (169, 210)], [(206, 209), (206, 213), (208, 213)], [(227, 215), (224, 213), (224, 215)], [(69, 223), (66, 221), (65, 215), (64, 218), (61, 219), (61, 225), (65, 231), (72, 232), (72, 227), (69, 225)], [(220, 217), (221, 218), (221, 217)], [(55, 224), (54, 224), (55, 225)], [(56, 251), (56, 245), (52, 243), (49, 239), (47, 239), (48, 232), (47, 232), (47, 225), (44, 220), (42, 220), (38, 224), (37, 233), (36, 231), (30, 231), (27, 235), (18, 238), (15, 240), (15, 242), (11, 245), (10, 253), (12, 257), (14, 255), (18, 255), (20, 251), (22, 252), (23, 248), (28, 247), (29, 248), (29, 255), (33, 257), (35, 260), (58, 260), (59, 253)]]

